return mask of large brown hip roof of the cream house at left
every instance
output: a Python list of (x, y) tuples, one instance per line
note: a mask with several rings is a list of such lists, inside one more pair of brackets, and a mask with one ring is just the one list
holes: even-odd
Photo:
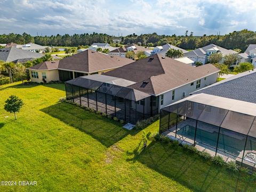
[(99, 53), (97, 51), (86, 50), (60, 60), (59, 69), (91, 73), (94, 71), (125, 66), (131, 62), (134, 61), (118, 56), (109, 56), (107, 54)]

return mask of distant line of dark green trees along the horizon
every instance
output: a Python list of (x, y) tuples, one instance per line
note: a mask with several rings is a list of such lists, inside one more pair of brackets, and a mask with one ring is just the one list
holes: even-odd
[[(78, 45), (91, 45), (92, 43), (113, 43), (113, 36), (107, 34), (74, 34), (74, 35), (56, 35), (56, 36), (31, 36), (29, 34), (9, 34), (0, 35), (0, 43), (18, 43), (25, 44), (33, 42), (39, 45), (52, 45), (52, 46), (78, 46)], [(182, 49), (193, 50), (198, 47), (203, 47), (208, 44), (216, 44), (226, 49), (241, 49), (245, 51), (249, 44), (256, 44), (256, 32), (247, 29), (241, 31), (234, 31), (227, 35), (203, 35), (193, 36), (193, 32), (185, 35), (157, 35), (141, 34), (141, 35), (127, 35), (122, 37), (122, 44), (139, 43), (143, 46), (157, 46), (170, 43), (179, 46)]]

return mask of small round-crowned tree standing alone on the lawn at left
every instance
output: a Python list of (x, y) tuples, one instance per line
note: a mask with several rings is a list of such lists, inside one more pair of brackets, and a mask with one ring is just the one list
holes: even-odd
[(4, 105), (4, 109), (10, 113), (14, 113), (15, 119), (17, 119), (16, 113), (20, 111), (21, 107), (24, 105), (23, 101), (16, 95), (11, 95)]

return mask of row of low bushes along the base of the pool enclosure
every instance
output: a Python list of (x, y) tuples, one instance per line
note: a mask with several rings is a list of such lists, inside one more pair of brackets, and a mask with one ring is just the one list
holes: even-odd
[(249, 170), (247, 167), (238, 165), (238, 164), (236, 164), (235, 161), (225, 162), (225, 160), (220, 155), (213, 157), (207, 151), (199, 151), (193, 145), (181, 144), (178, 140), (171, 140), (169, 137), (166, 137), (159, 133), (154, 134), (154, 139), (156, 141), (163, 142), (166, 144), (171, 143), (171, 145), (174, 147), (182, 147), (184, 150), (188, 151), (189, 153), (197, 154), (197, 155), (201, 156), (203, 159), (205, 159), (205, 161), (210, 161), (216, 165), (225, 166), (226, 169), (228, 169), (230, 171), (239, 172), (241, 174), (249, 174), (250, 173), (251, 179), (256, 181), (256, 172), (255, 171), (253, 172), (253, 171)]

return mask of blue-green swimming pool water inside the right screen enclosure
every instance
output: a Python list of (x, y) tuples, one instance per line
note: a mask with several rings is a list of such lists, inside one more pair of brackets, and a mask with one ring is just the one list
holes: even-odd
[[(182, 127), (177, 134), (182, 135), (186, 138), (194, 140), (195, 138), (195, 127), (186, 125)], [(232, 133), (234, 134), (234, 132)], [(197, 143), (203, 143), (206, 146), (216, 148), (217, 147), (218, 132), (207, 132), (201, 129), (196, 130), (196, 141)], [(230, 137), (220, 132), (218, 150), (221, 150), (230, 155), (238, 156), (243, 150), (245, 145), (245, 139), (237, 139)]]

